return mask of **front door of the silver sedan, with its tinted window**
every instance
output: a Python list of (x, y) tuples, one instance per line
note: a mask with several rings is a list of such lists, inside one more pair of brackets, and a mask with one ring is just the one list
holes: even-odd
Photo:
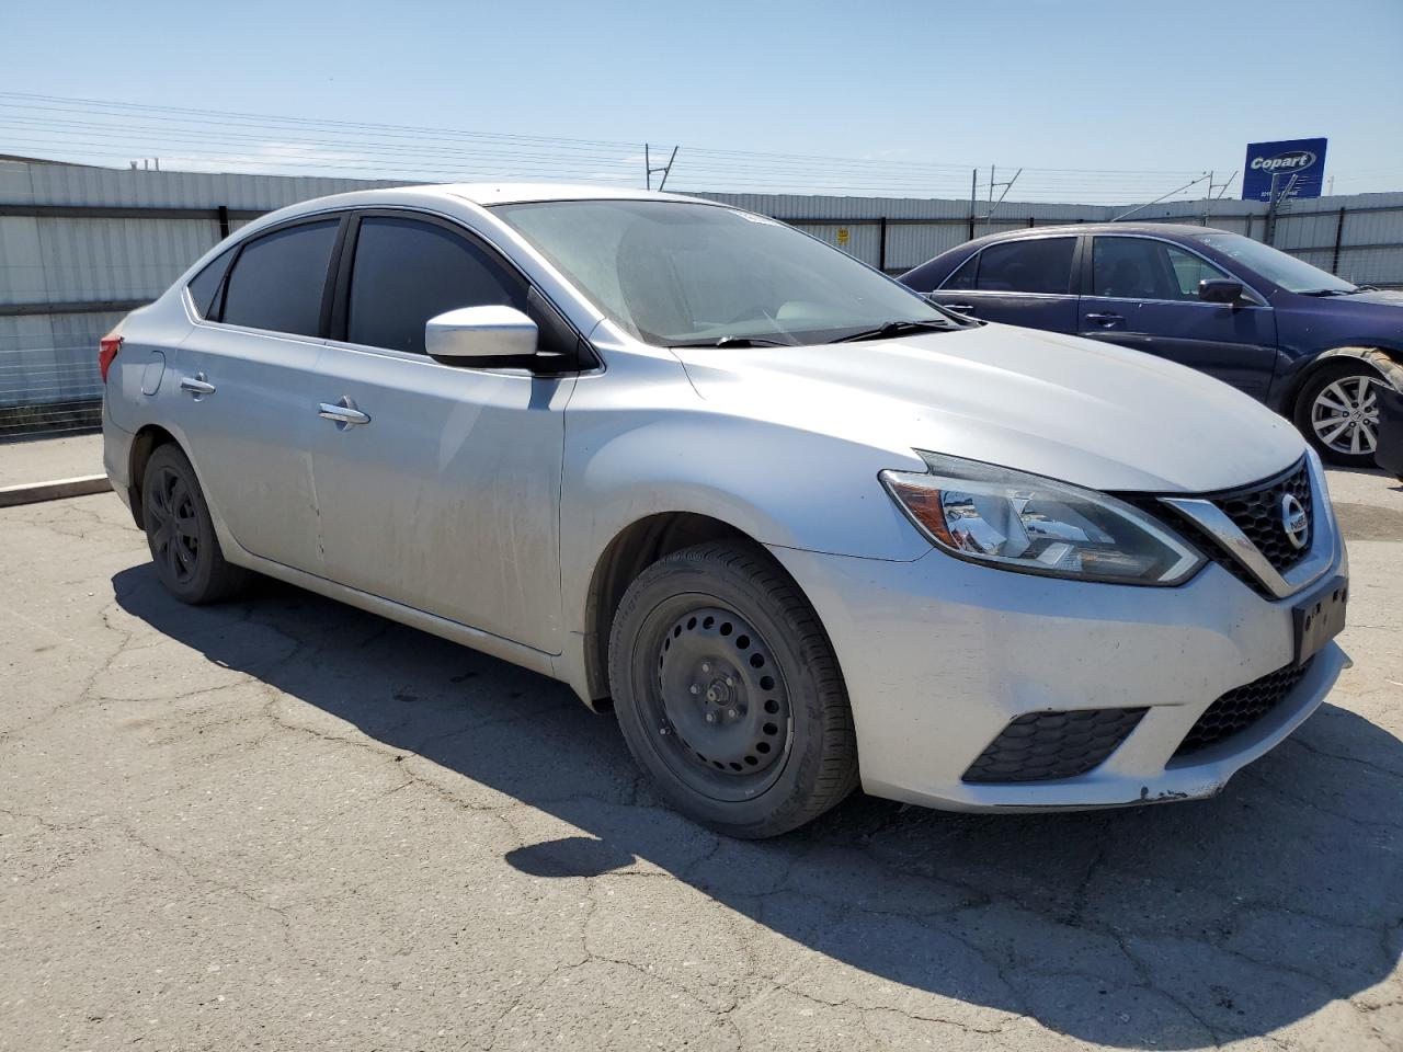
[(313, 456), (327, 576), (558, 654), (574, 377), (424, 353), (431, 317), (523, 309), (525, 281), (460, 229), (412, 215), (366, 215), (347, 252), (344, 338), (323, 355), (318, 403), (354, 414), (321, 421)]

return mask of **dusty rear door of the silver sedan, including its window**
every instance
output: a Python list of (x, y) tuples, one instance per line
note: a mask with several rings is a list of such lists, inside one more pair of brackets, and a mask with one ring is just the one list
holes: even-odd
[(321, 572), (311, 477), (316, 363), (341, 216), (300, 220), (237, 248), (215, 289), (196, 279), (201, 320), (177, 349), (173, 422), (234, 540)]

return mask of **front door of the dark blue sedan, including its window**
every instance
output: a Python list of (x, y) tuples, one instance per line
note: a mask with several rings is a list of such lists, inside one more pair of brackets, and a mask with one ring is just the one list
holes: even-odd
[(1266, 400), (1277, 363), (1271, 307), (1198, 299), (1198, 282), (1232, 279), (1172, 241), (1129, 234), (1090, 238), (1080, 302), (1080, 335), (1145, 351), (1216, 376)]

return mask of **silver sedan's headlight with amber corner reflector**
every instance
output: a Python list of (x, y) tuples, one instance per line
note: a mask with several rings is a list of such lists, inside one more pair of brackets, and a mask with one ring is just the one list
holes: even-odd
[(958, 558), (1125, 585), (1177, 585), (1204, 564), (1193, 547), (1114, 497), (918, 453), (929, 474), (882, 471), (882, 485), (922, 533)]

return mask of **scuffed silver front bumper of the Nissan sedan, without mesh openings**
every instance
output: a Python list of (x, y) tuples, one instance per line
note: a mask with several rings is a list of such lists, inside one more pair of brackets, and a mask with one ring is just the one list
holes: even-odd
[[(1347, 575), (1331, 537), (1330, 575)], [(1226, 692), (1289, 666), (1292, 606), (1216, 564), (1180, 588), (1031, 576), (932, 550), (913, 562), (772, 548), (814, 603), (847, 685), (863, 788), (954, 811), (1079, 809), (1211, 797), (1320, 704), (1345, 663), (1334, 642), (1266, 715), (1176, 757)], [(964, 781), (1028, 713), (1145, 708), (1093, 770)]]

